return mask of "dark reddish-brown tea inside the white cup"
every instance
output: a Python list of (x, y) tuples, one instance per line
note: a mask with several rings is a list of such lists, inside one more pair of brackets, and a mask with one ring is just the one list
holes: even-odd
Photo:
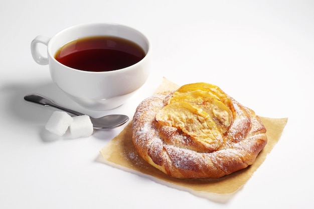
[(113, 36), (95, 36), (74, 40), (55, 54), (60, 63), (85, 71), (111, 71), (131, 66), (145, 56), (132, 41)]

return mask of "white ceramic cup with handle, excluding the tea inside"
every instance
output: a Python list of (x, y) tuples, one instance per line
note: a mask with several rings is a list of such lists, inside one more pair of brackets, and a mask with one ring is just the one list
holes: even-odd
[[(102, 72), (77, 70), (55, 59), (56, 52), (66, 43), (91, 36), (116, 36), (135, 42), (146, 53), (139, 62), (122, 69)], [(47, 45), (47, 55), (39, 50)], [(49, 64), (52, 80), (82, 107), (105, 111), (121, 106), (146, 81), (149, 74), (149, 41), (140, 32), (118, 24), (83, 24), (67, 28), (52, 38), (37, 36), (31, 43), (34, 60)]]

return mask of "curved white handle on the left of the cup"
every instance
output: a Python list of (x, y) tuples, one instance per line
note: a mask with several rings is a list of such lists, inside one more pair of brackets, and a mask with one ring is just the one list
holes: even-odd
[(48, 65), (48, 56), (43, 56), (38, 49), (38, 44), (44, 44), (48, 46), (50, 38), (46, 36), (37, 36), (31, 43), (31, 52), (33, 59), (40, 65)]

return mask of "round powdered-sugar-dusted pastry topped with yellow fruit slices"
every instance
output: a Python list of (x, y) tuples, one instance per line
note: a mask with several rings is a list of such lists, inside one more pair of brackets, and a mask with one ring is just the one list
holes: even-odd
[(266, 145), (265, 133), (252, 110), (208, 83), (146, 98), (132, 122), (138, 154), (176, 178), (219, 178), (246, 168)]

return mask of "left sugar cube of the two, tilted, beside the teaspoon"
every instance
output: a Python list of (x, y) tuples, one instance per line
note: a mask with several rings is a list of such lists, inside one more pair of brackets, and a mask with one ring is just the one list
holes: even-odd
[(73, 118), (60, 111), (55, 111), (49, 118), (45, 128), (53, 134), (63, 136), (73, 122)]

